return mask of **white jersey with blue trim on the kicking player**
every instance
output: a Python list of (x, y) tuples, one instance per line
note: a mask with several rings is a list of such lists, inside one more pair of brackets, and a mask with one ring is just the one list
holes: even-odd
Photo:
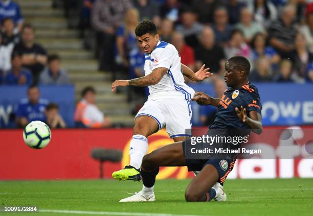
[(158, 67), (166, 67), (167, 73), (158, 84), (149, 86), (148, 100), (155, 99), (186, 99), (193, 97), (194, 90), (185, 84), (181, 57), (175, 46), (164, 41), (158, 45), (150, 55), (145, 54), (145, 76)]

